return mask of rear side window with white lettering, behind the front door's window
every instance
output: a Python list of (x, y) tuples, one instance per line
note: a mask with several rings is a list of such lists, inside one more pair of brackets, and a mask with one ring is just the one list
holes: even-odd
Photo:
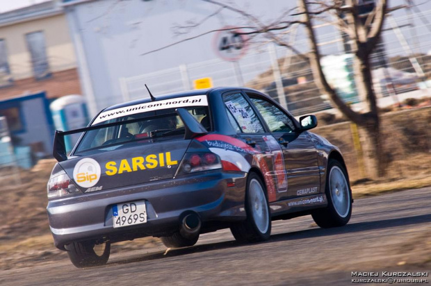
[(263, 133), (263, 127), (243, 94), (228, 94), (223, 97), (225, 105), (243, 133)]

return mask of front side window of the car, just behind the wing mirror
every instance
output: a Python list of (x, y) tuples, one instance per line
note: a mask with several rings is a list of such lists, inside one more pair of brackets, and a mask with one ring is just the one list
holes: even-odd
[(295, 132), (295, 124), (286, 113), (280, 110), (277, 106), (273, 105), (266, 100), (256, 97), (250, 97), (254, 106), (261, 112), (270, 132), (275, 133), (293, 133)]

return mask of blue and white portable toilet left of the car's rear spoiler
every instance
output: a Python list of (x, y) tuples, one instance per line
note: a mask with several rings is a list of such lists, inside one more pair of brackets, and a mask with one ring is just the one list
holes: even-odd
[[(88, 113), (86, 100), (83, 96), (72, 94), (62, 96), (53, 101), (51, 109), (54, 126), (61, 131), (70, 131), (86, 127), (88, 124)], [(70, 151), (78, 141), (81, 134), (73, 134), (65, 137), (66, 150)]]

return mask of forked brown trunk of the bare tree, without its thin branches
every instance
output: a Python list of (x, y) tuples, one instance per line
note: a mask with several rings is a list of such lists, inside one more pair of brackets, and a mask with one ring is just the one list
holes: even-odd
[(368, 176), (371, 178), (380, 178), (384, 176), (384, 153), (382, 146), (382, 136), (380, 134), (379, 110), (377, 100), (373, 89), (373, 78), (371, 76), (371, 66), (369, 56), (372, 49), (368, 49), (367, 42), (359, 41), (359, 38), (366, 38), (366, 30), (359, 31), (355, 26), (355, 19), (352, 15), (349, 18), (350, 28), (355, 31), (355, 39), (352, 39), (352, 52), (354, 55), (353, 66), (355, 73), (355, 83), (359, 98), (364, 102), (364, 113), (359, 114), (345, 104), (334, 88), (327, 83), (325, 74), (320, 65), (320, 53), (318, 50), (316, 35), (314, 35), (311, 17), (307, 7), (306, 0), (298, 0), (300, 11), (304, 13), (304, 24), (306, 27), (308, 40), (310, 44), (310, 65), (316, 84), (321, 92), (325, 92), (330, 97), (334, 107), (338, 108), (345, 117), (354, 122), (361, 128), (361, 134), (365, 137), (364, 149), (367, 154)]

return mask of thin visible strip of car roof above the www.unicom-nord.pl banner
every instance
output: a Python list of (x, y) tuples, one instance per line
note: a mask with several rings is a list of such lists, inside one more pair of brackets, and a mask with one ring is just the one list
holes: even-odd
[[(209, 94), (211, 92), (222, 93), (222, 92), (227, 92), (229, 90), (248, 90), (248, 91), (252, 91), (252, 92), (258, 92), (257, 90), (252, 90), (252, 89), (247, 88), (247, 87), (212, 87), (212, 88), (204, 89), (204, 90), (188, 90), (185, 92), (174, 92), (171, 94), (163, 94), (163, 95), (158, 95), (158, 96), (154, 96), (154, 97), (156, 98), (156, 101), (160, 101), (163, 99), (174, 99), (177, 97)], [(108, 108), (105, 108), (102, 111), (114, 110), (117, 108), (124, 108), (127, 106), (133, 106), (136, 104), (147, 103), (147, 102), (151, 102), (151, 99), (149, 98), (149, 96), (148, 97), (146, 96), (143, 99), (136, 99), (134, 101), (127, 101), (124, 103), (115, 104), (114, 106), (109, 106)]]

